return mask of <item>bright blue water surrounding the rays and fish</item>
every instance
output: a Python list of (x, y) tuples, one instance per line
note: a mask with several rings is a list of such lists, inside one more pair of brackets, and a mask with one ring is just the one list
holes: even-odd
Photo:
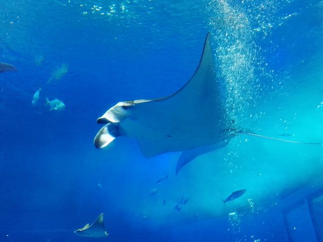
[[(179, 153), (93, 146), (117, 102), (182, 87), (209, 31), (239, 127), (322, 143), (322, 0), (0, 0), (0, 20), (0, 62), (18, 69), (0, 74), (0, 242), (323, 241), (322, 146), (239, 135), (177, 176)], [(111, 236), (74, 235), (102, 212)]]

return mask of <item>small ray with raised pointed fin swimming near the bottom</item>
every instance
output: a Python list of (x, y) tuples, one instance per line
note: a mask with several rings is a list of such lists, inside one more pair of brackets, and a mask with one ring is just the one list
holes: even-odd
[(97, 217), (93, 224), (86, 224), (83, 228), (74, 231), (74, 234), (81, 237), (90, 238), (103, 238), (109, 236), (109, 234), (105, 231), (103, 213)]

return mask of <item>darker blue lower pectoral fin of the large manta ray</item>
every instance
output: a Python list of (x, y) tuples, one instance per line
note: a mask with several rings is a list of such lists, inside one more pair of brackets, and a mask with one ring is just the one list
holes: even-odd
[(228, 142), (220, 142), (213, 145), (207, 145), (207, 146), (197, 147), (197, 148), (183, 151), (176, 164), (176, 170), (175, 170), (176, 175), (178, 174), (179, 170), (188, 162), (193, 161), (195, 158), (205, 153), (223, 148), (227, 144)]

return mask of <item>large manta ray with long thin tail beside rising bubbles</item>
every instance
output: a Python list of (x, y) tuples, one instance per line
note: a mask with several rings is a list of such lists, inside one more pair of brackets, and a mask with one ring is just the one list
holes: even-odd
[(118, 102), (97, 119), (105, 125), (96, 134), (94, 146), (103, 149), (117, 137), (127, 136), (137, 140), (145, 157), (182, 152), (177, 174), (189, 161), (225, 147), (240, 133), (274, 139), (234, 127), (215, 75), (210, 36), (206, 36), (195, 73), (182, 88), (157, 99)]

